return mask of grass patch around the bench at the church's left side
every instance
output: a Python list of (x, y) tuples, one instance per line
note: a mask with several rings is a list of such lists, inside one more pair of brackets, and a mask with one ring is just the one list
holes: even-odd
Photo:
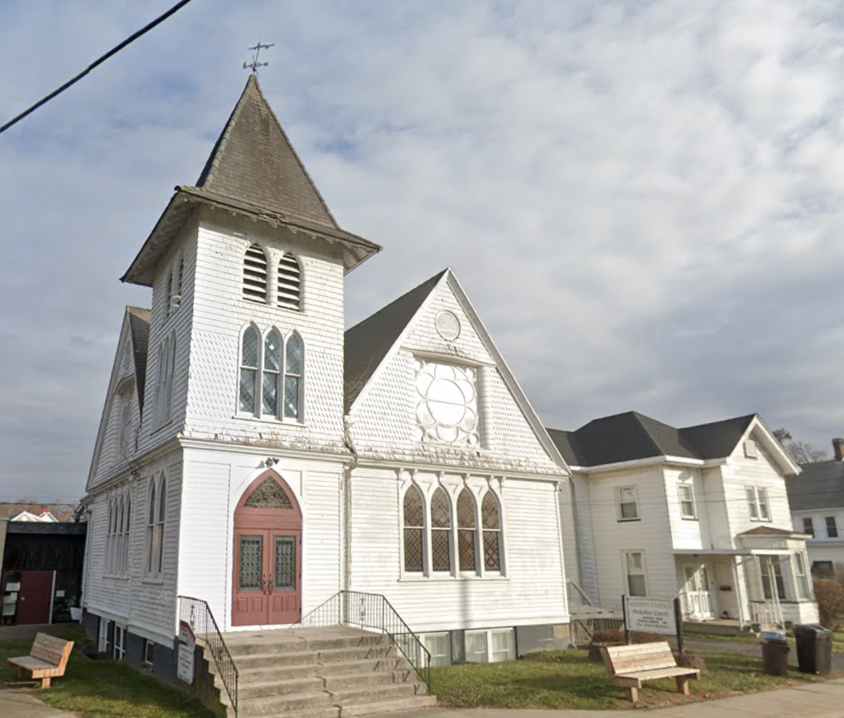
[[(52, 635), (84, 642), (78, 625), (56, 627)], [(0, 682), (14, 681), (17, 670), (7, 658), (26, 656), (32, 640), (0, 642)], [(75, 647), (74, 647), (75, 649)], [(134, 671), (121, 661), (92, 661), (74, 650), (63, 678), (50, 688), (33, 690), (47, 705), (68, 710), (80, 718), (210, 718), (197, 700), (179, 693), (151, 676)]]

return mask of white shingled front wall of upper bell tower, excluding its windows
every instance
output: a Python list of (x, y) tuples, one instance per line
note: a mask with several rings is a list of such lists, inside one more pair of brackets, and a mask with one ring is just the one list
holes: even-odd
[[(185, 435), (219, 441), (267, 442), (276, 446), (342, 451), (343, 445), (343, 264), (317, 252), (304, 235), (287, 229), (237, 234), (255, 225), (203, 224), (198, 235), (197, 289)], [(268, 255), (271, 301), (242, 299), (243, 253), (252, 242)], [(319, 251), (325, 248), (318, 247)], [(275, 304), (276, 273), (284, 251), (303, 270), (302, 310)], [(305, 344), (304, 426), (236, 416), (241, 330), (253, 321), (266, 332), (297, 331)]]

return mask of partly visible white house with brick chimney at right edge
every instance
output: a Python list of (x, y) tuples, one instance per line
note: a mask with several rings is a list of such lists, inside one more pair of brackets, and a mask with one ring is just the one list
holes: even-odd
[(833, 458), (800, 466), (787, 483), (794, 530), (806, 535), (815, 578), (831, 578), (844, 568), (844, 439), (832, 440)]

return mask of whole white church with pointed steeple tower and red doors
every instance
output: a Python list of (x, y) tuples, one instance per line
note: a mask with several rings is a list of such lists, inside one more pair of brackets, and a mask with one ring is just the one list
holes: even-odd
[(435, 663), (565, 645), (569, 470), (454, 274), (344, 332), (340, 229), (257, 79), (123, 281), (87, 486), (85, 621), (175, 681), (180, 596), (221, 630), (387, 597)]

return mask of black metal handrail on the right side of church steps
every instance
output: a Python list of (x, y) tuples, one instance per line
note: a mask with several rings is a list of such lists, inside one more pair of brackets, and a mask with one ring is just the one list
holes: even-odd
[(326, 602), (322, 602), (302, 617), (300, 625), (307, 626), (360, 626), (364, 629), (380, 630), (402, 651), (408, 663), (428, 687), (430, 685), (430, 651), (425, 648), (419, 636), (404, 623), (398, 611), (380, 593), (360, 591), (338, 591)]

